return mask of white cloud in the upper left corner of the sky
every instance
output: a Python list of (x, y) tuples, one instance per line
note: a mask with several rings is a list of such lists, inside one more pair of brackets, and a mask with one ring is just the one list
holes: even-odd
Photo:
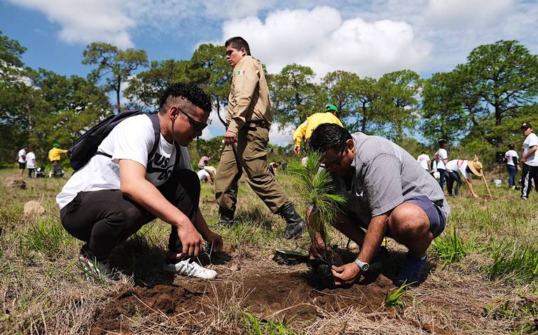
[(120, 48), (132, 47), (129, 31), (135, 22), (123, 13), (120, 0), (11, 0), (40, 10), (50, 22), (60, 24), (60, 39), (67, 43), (103, 41)]

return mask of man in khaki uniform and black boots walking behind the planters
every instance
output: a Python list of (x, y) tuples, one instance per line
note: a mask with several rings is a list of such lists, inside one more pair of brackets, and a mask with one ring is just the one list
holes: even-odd
[(230, 224), (237, 204), (237, 182), (242, 173), (269, 209), (287, 222), (285, 238), (303, 234), (305, 222), (295, 211), (275, 176), (269, 172), (267, 143), (273, 113), (261, 63), (250, 55), (247, 41), (233, 37), (226, 41), (226, 59), (233, 67), (228, 97), (226, 145), (216, 171), (215, 197), (220, 222)]

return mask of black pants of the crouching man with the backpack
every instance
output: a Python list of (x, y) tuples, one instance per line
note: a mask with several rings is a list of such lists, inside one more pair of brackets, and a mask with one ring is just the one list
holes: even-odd
[[(195, 222), (200, 201), (200, 180), (194, 171), (174, 171), (172, 178), (158, 187), (171, 204)], [(120, 190), (78, 192), (75, 199), (60, 211), (62, 225), (81, 241), (83, 253), (98, 261), (109, 257), (111, 250), (135, 234), (155, 215), (127, 197)], [(181, 251), (177, 229), (172, 227), (168, 250)]]

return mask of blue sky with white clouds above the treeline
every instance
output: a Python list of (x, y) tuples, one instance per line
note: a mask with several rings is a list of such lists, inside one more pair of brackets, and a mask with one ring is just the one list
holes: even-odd
[[(92, 41), (188, 59), (200, 43), (240, 35), (270, 73), (296, 62), (317, 78), (336, 69), (428, 78), (499, 39), (536, 54), (537, 28), (538, 2), (523, 0), (0, 0), (0, 30), (27, 48), (25, 64), (67, 76), (88, 73), (81, 59)], [(223, 134), (219, 124), (204, 136)], [(289, 143), (291, 129), (276, 128), (270, 141)]]

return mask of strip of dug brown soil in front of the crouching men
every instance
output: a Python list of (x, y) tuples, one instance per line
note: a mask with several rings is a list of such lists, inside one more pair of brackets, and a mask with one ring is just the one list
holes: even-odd
[[(179, 285), (135, 287), (120, 292), (95, 314), (92, 335), (130, 331), (128, 320), (137, 313), (165, 313), (172, 317), (185, 311), (206, 314), (214, 311), (217, 301), (239, 301), (240, 307), (258, 318), (308, 320), (323, 317), (324, 311), (341, 311), (350, 307), (364, 313), (380, 311), (392, 282), (379, 276), (370, 285), (352, 285), (335, 290), (317, 290), (306, 271), (291, 273), (249, 274), (237, 280), (192, 282), (181, 279)], [(312, 286), (312, 284), (314, 284)]]

